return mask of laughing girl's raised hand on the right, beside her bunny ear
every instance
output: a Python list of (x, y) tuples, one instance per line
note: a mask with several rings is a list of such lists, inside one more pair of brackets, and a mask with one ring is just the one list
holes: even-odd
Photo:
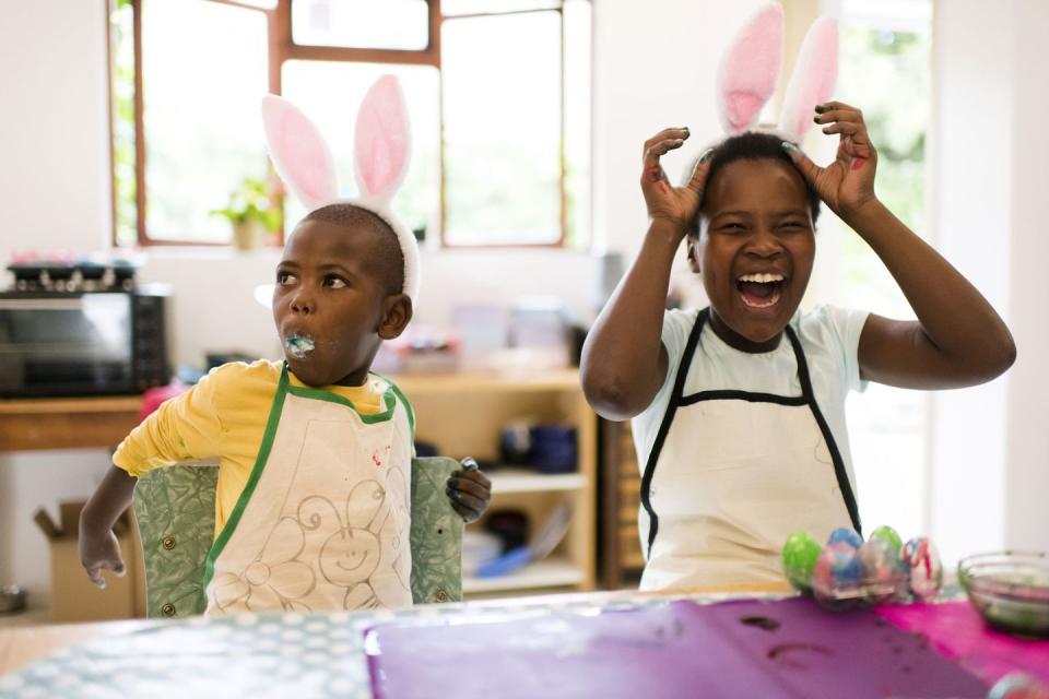
[(877, 151), (867, 133), (863, 114), (840, 102), (816, 105), (814, 121), (825, 126), (824, 133), (838, 133), (838, 153), (834, 163), (820, 167), (793, 144), (785, 144), (802, 176), (834, 213), (850, 223), (874, 196)]

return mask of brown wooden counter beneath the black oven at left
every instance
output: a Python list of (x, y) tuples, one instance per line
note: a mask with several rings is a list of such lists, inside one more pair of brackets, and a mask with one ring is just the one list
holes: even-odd
[(111, 449), (139, 424), (141, 395), (0, 399), (0, 452)]

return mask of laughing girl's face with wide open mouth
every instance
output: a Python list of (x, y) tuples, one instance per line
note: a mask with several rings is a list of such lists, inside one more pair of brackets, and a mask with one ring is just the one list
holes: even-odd
[(775, 348), (809, 285), (815, 250), (805, 183), (793, 166), (762, 158), (721, 167), (704, 192), (699, 239), (688, 239), (718, 336), (744, 352)]

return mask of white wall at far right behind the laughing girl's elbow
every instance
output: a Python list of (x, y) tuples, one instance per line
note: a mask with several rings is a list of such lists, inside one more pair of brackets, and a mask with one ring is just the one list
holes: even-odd
[(1049, 108), (1034, 67), (1049, 61), (1049, 5), (941, 2), (935, 13), (940, 249), (1005, 318), (1016, 365), (975, 389), (936, 394), (933, 536), (948, 558), (1001, 547), (1049, 549), (1049, 253), (1045, 161)]

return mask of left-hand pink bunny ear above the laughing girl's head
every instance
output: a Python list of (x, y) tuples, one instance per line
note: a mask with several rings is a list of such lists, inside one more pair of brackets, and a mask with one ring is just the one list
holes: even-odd
[(717, 97), (726, 133), (752, 128), (776, 92), (783, 63), (783, 9), (765, 5), (739, 31), (718, 66)]

